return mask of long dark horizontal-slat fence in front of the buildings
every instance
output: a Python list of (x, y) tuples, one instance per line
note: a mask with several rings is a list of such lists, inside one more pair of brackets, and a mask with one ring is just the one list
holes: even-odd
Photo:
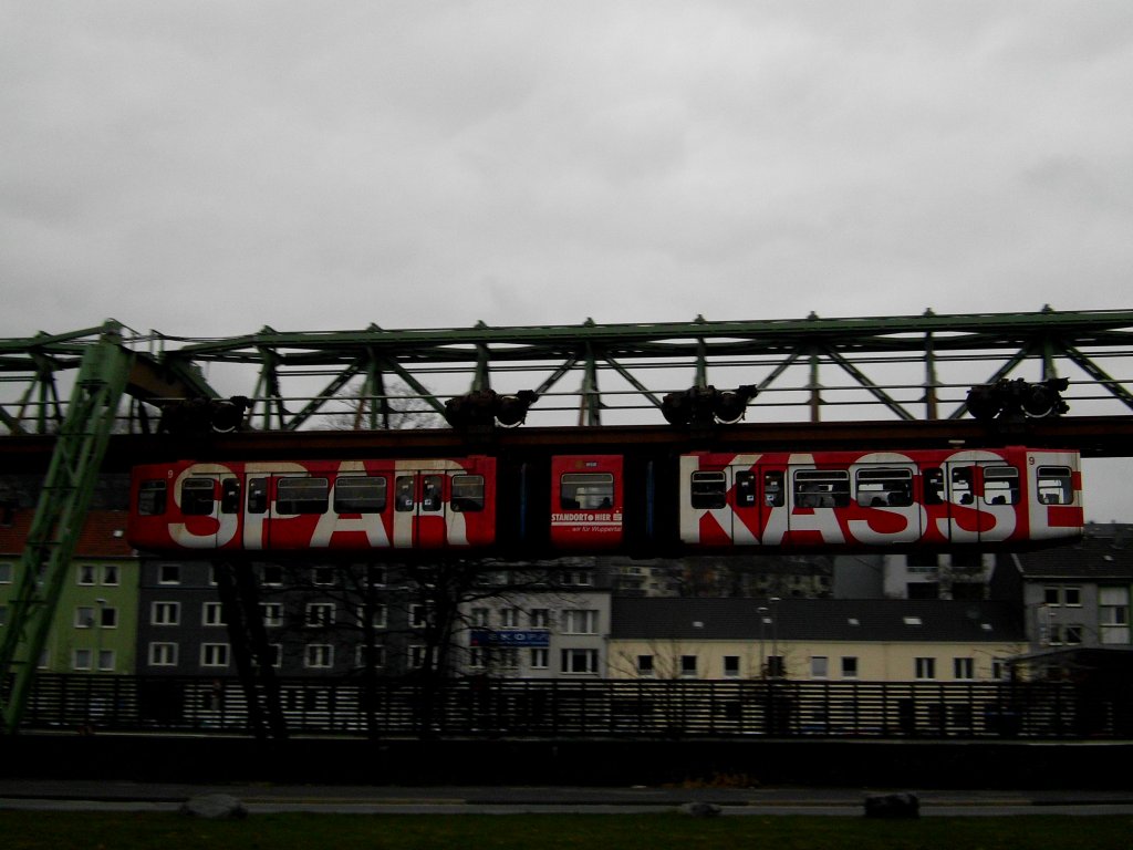
[[(274, 690), (288, 732), (304, 736), (1133, 738), (1128, 700), (1071, 682), (283, 679)], [(48, 673), (23, 728), (253, 732), (236, 679)]]

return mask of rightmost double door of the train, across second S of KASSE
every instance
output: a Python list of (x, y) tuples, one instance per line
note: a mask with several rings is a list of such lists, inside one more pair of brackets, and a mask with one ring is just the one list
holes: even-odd
[(1023, 482), (1017, 467), (988, 453), (944, 465), (951, 543), (995, 543), (1014, 535)]

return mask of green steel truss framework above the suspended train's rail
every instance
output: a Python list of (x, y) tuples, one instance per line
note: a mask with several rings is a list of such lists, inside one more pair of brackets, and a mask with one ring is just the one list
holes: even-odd
[[(78, 366), (94, 331), (0, 340), (0, 430), (52, 433), (66, 407), (60, 376)], [(648, 424), (665, 393), (692, 386), (758, 388), (751, 419), (948, 419), (966, 388), (1012, 376), (1068, 376), (1071, 400), (1133, 410), (1127, 375), (1133, 311), (872, 318), (692, 322), (538, 328), (258, 333), (193, 340), (137, 335), (119, 428), (153, 430), (173, 399), (245, 396), (247, 424), (265, 431), (406, 427), (407, 410), (443, 426), (449, 398), (535, 391), (547, 423)], [(144, 349), (144, 350), (143, 350)], [(139, 376), (140, 373), (140, 376)], [(208, 374), (210, 382), (203, 379)], [(213, 389), (223, 385), (225, 392)], [(796, 408), (791, 410), (791, 408)], [(1075, 411), (1077, 407), (1074, 407)], [(564, 411), (573, 410), (574, 415)], [(636, 413), (630, 413), (636, 411)], [(642, 413), (644, 411), (644, 413)], [(651, 413), (650, 413), (651, 411)], [(434, 414), (432, 418), (423, 414)], [(651, 418), (650, 418), (651, 416)]]

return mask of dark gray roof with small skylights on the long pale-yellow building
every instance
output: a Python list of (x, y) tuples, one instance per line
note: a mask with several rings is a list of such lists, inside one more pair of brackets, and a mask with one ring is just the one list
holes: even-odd
[[(759, 609), (767, 609), (760, 615)], [(638, 640), (1023, 641), (1019, 609), (952, 600), (622, 598), (611, 637)], [(760, 619), (764, 620), (760, 627)], [(777, 620), (777, 624), (776, 621)]]

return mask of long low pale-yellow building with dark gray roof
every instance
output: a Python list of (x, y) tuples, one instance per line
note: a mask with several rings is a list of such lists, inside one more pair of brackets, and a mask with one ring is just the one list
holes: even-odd
[(1006, 603), (616, 598), (612, 679), (988, 682), (1026, 652)]

